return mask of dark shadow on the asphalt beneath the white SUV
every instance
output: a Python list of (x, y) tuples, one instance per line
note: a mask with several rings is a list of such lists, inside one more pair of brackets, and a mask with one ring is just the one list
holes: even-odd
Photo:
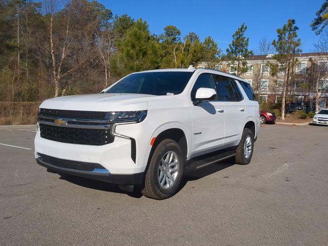
[[(209, 165), (207, 167), (201, 168), (196, 171), (187, 172), (182, 177), (182, 181), (177, 193), (180, 192), (180, 190), (182, 190), (183, 187), (187, 185), (188, 181), (197, 180), (206, 177), (223, 169), (229, 168), (233, 165), (235, 165), (234, 158), (230, 158), (224, 161), (213, 163), (212, 165)], [(94, 179), (72, 176), (72, 175), (62, 175), (60, 176), (60, 179), (74, 183), (74, 185), (78, 185), (89, 189), (126, 194), (134, 198), (140, 198), (143, 196), (138, 189), (134, 189), (133, 192), (129, 192), (129, 191), (121, 190), (118, 185), (115, 185), (113, 183), (107, 183), (100, 180), (94, 180)]]

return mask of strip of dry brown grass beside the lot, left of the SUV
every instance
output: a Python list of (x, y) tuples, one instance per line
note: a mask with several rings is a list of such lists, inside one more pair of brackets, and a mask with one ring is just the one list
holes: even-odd
[(0, 101), (0, 125), (36, 124), (38, 102)]

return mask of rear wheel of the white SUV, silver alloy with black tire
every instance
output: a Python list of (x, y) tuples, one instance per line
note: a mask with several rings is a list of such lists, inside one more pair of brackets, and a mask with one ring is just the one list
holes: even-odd
[(236, 149), (236, 163), (240, 165), (247, 165), (251, 162), (254, 150), (254, 135), (252, 131), (245, 128), (242, 132), (242, 136), (239, 145)]

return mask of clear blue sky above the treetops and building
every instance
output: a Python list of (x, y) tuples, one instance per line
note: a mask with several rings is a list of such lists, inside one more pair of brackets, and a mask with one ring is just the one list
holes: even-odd
[(257, 49), (262, 37), (276, 38), (276, 29), (288, 18), (294, 18), (299, 27), (303, 52), (314, 50), (318, 37), (310, 24), (323, 0), (230, 0), (230, 1), (156, 1), (156, 0), (100, 0), (114, 14), (128, 14), (147, 21), (151, 33), (159, 34), (168, 25), (176, 26), (181, 36), (195, 32), (201, 40), (212, 36), (218, 46), (226, 50), (232, 34), (244, 22), (248, 26), (250, 49)]

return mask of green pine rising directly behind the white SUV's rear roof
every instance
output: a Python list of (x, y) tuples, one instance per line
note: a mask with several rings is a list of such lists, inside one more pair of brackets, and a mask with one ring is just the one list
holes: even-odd
[(232, 35), (232, 43), (227, 49), (227, 58), (230, 60), (230, 65), (236, 66), (237, 75), (247, 71), (244, 58), (253, 55), (253, 52), (248, 49), (249, 38), (245, 37), (246, 30), (247, 26), (243, 23)]

